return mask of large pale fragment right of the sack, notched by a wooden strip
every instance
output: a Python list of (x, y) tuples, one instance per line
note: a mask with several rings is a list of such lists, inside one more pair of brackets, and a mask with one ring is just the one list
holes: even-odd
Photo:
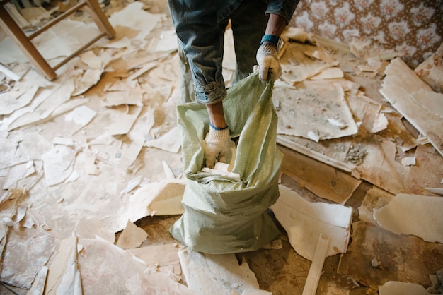
[(289, 236), (292, 248), (312, 260), (320, 234), (328, 235), (327, 255), (346, 253), (350, 238), (352, 208), (338, 204), (310, 203), (298, 193), (279, 186), (280, 198), (272, 212)]

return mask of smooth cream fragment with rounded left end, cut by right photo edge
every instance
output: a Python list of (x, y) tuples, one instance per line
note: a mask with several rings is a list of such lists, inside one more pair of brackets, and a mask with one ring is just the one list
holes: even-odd
[(374, 210), (374, 218), (394, 234), (412, 234), (424, 241), (443, 243), (443, 198), (400, 193)]

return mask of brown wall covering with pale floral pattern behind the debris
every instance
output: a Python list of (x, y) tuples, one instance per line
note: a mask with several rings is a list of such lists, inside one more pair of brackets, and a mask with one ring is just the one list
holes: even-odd
[(350, 43), (374, 40), (412, 66), (443, 42), (443, 0), (301, 0), (289, 25)]

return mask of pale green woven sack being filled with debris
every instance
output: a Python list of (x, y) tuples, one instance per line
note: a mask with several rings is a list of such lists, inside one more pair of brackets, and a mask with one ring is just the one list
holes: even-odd
[(272, 83), (253, 73), (229, 88), (223, 101), (231, 135), (239, 136), (232, 172), (240, 174), (241, 181), (202, 172), (202, 140), (209, 128), (206, 107), (197, 102), (177, 107), (187, 183), (185, 213), (169, 231), (193, 251), (254, 251), (280, 235), (266, 212), (280, 195), (283, 158), (276, 146), (277, 114), (271, 96)]

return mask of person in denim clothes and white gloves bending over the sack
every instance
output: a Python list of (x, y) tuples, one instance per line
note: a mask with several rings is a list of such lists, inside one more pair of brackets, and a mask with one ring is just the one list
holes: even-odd
[[(235, 83), (258, 65), (260, 80), (280, 78), (277, 50), (299, 0), (168, 0), (176, 29), (182, 102), (205, 104), (209, 132), (203, 140), (206, 167), (229, 160), (234, 142), (223, 109), (226, 88), (222, 76), (224, 32), (229, 21), (236, 53)], [(192, 77), (192, 78), (191, 78)], [(193, 84), (193, 85), (191, 85)], [(241, 97), (238, 97), (241, 107)]]

